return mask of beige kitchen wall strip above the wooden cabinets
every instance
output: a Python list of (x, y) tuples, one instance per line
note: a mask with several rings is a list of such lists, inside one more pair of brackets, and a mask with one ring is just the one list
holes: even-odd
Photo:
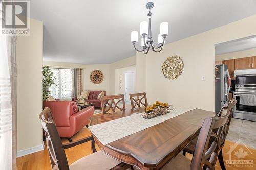
[(216, 61), (256, 56), (256, 48), (216, 55)]

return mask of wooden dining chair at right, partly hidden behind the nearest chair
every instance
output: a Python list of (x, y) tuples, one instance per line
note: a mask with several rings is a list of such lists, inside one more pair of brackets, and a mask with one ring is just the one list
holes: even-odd
[[(220, 150), (220, 153), (218, 155), (219, 157), (219, 162), (220, 162), (220, 165), (221, 165), (221, 168), (222, 170), (225, 169), (225, 165), (224, 165), (224, 162), (223, 162), (223, 155), (222, 155), (222, 148), (224, 147), (224, 144), (225, 144), (225, 139), (226, 139), (226, 136), (228, 134), (228, 130), (229, 130), (229, 126), (230, 126), (230, 123), (231, 123), (231, 119), (232, 119), (232, 116), (233, 116), (233, 108), (234, 106), (237, 104), (237, 100), (232, 98), (228, 103), (225, 103), (223, 107), (227, 107), (228, 110), (230, 111), (230, 114), (229, 114), (229, 117), (228, 117), (228, 122), (227, 124), (225, 125), (225, 132), (223, 134), (223, 139), (221, 141), (221, 150)], [(216, 116), (221, 116), (221, 111), (219, 112), (219, 114), (217, 114)], [(185, 155), (186, 153), (190, 153), (190, 154), (194, 154), (194, 151), (195, 151), (195, 147), (196, 147), (196, 143), (197, 143), (197, 140), (198, 138), (195, 138), (194, 140), (192, 140), (187, 146), (186, 148), (184, 148), (183, 150), (183, 155)]]

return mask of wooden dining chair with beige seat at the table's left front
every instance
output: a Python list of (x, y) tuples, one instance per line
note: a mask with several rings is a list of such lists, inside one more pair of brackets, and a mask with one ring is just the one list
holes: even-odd
[[(97, 151), (88, 156), (82, 157), (75, 161), (70, 166), (68, 165), (67, 157), (64, 149), (73, 147), (72, 143), (61, 143), (56, 125), (54, 123), (51, 111), (45, 108), (39, 115), (42, 128), (46, 135), (46, 148), (49, 153), (51, 168), (54, 170), (91, 170), (91, 169), (128, 169), (131, 165), (122, 163), (103, 151)], [(92, 136), (87, 137), (88, 141), (94, 141)]]

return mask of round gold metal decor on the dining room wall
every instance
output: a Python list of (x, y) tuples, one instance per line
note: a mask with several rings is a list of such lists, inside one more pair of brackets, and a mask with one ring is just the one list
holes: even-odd
[(162, 74), (169, 80), (177, 79), (182, 74), (183, 69), (183, 60), (177, 55), (168, 57), (162, 64)]

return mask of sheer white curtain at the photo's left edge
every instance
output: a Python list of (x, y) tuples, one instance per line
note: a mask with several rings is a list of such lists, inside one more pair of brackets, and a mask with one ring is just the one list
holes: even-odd
[(0, 35), (0, 169), (16, 169), (16, 42)]

